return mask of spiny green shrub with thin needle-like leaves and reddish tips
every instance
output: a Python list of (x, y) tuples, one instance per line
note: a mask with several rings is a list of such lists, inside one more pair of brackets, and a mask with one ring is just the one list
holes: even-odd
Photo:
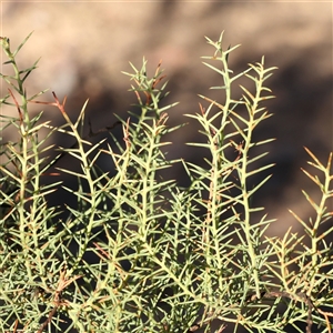
[[(304, 235), (289, 230), (282, 239), (269, 238), (274, 221), (252, 198), (270, 179), (253, 181), (273, 165), (261, 162), (273, 139), (255, 141), (253, 133), (271, 117), (263, 103), (273, 98), (265, 84), (274, 68), (265, 68), (262, 58), (233, 73), (228, 58), (238, 47), (224, 51), (222, 37), (208, 39), (215, 52), (203, 57), (221, 77), (213, 87), (221, 101), (202, 95), (208, 105), (186, 114), (204, 137), (189, 143), (206, 151), (202, 165), (168, 160), (171, 143), (164, 135), (185, 128), (168, 125), (174, 104), (161, 107), (167, 95), (161, 64), (151, 78), (144, 60), (125, 73), (138, 113), (118, 117), (121, 139), (110, 127), (103, 129), (110, 140), (93, 144), (91, 128), (83, 133), (87, 103), (72, 121), (65, 99), (54, 92), (47, 102), (40, 100), (43, 92), (29, 97), (24, 84), (37, 63), (22, 70), (16, 60), (29, 37), (14, 52), (1, 38), (6, 65), (13, 69), (12, 75), (1, 74), (9, 87), (1, 104), (17, 114), (2, 114), (1, 130), (19, 138), (1, 143), (1, 332), (302, 332), (302, 323), (306, 332), (313, 324), (331, 332), (332, 226), (323, 232), (322, 225), (333, 214), (332, 153), (322, 164), (306, 149), (316, 173), (303, 171), (321, 198), (315, 202), (303, 192), (313, 219), (293, 213)], [(243, 93), (235, 99), (239, 79), (252, 88), (240, 85)], [(32, 117), (32, 102), (54, 105), (64, 124), (52, 125), (42, 112)], [(75, 143), (54, 147), (54, 134)], [(59, 168), (63, 155), (79, 169)], [(109, 170), (98, 165), (100, 158)], [(183, 165), (188, 188), (162, 178), (175, 163)], [(59, 181), (43, 181), (54, 173)], [(67, 174), (75, 176), (74, 189)], [(48, 198), (61, 186), (73, 203), (59, 208)]]

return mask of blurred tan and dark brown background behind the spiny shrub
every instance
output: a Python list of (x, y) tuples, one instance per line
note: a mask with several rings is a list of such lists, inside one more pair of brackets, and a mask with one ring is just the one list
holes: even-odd
[[(295, 223), (287, 209), (300, 216), (313, 213), (301, 189), (319, 194), (300, 170), (312, 171), (303, 145), (324, 163), (333, 150), (332, 3), (1, 2), (1, 36), (10, 38), (12, 49), (34, 31), (18, 58), (24, 68), (41, 57), (39, 69), (28, 80), (28, 94), (50, 88), (39, 100), (52, 101), (51, 91), (60, 99), (68, 95), (67, 111), (73, 119), (89, 98), (87, 112), (94, 130), (112, 125), (113, 113), (124, 117), (132, 108), (134, 94), (128, 91), (129, 78), (121, 71), (131, 71), (129, 61), (140, 68), (143, 57), (150, 74), (163, 60), (171, 91), (167, 102), (180, 101), (170, 111), (170, 124), (189, 122), (183, 114), (199, 112), (198, 103), (204, 104), (199, 93), (219, 99), (209, 88), (221, 85), (221, 79), (200, 57), (214, 52), (204, 36), (218, 40), (223, 30), (225, 49), (241, 44), (229, 60), (235, 73), (262, 56), (268, 67), (279, 67), (266, 82), (276, 95), (265, 104), (274, 117), (258, 129), (261, 138), (276, 138), (268, 145), (270, 155), (263, 161), (276, 162), (276, 167), (255, 200), (256, 205), (266, 208), (269, 218), (278, 219), (270, 233), (282, 234)], [(1, 95), (4, 93), (1, 88)], [(32, 105), (36, 112), (44, 109), (54, 123), (62, 123), (56, 108), (41, 107)], [(198, 127), (190, 122), (186, 130), (169, 138), (173, 142), (169, 157), (201, 163), (195, 149), (184, 145), (202, 140), (200, 137)], [(73, 142), (59, 137), (57, 143), (69, 147)], [(182, 175), (174, 169), (172, 178)], [(54, 200), (61, 203), (65, 199)]]

